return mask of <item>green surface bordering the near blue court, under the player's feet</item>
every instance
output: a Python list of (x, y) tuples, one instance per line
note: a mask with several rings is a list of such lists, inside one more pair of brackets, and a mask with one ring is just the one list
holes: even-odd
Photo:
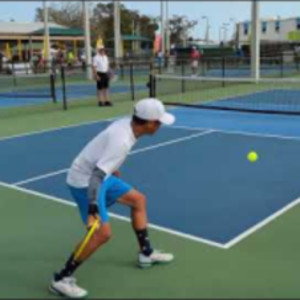
[[(113, 109), (30, 108), (1, 118), (0, 136), (114, 118), (129, 114), (132, 106), (121, 101)], [(0, 298), (56, 299), (47, 290), (52, 273), (84, 234), (76, 208), (3, 183), (0, 196)], [(299, 298), (299, 225), (300, 207), (295, 206), (229, 249), (151, 229), (155, 247), (173, 252), (176, 259), (141, 270), (135, 265), (131, 225), (112, 218), (113, 239), (76, 277), (90, 298)]]

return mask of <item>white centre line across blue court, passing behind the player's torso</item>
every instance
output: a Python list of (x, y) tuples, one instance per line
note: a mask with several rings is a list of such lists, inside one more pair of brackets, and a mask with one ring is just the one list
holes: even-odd
[[(129, 155), (134, 155), (134, 154), (154, 150), (154, 149), (157, 149), (157, 148), (161, 148), (161, 147), (181, 143), (181, 142), (191, 140), (191, 139), (194, 139), (194, 138), (197, 138), (197, 137), (200, 137), (200, 136), (203, 136), (203, 135), (207, 135), (207, 134), (210, 134), (210, 133), (213, 133), (213, 132), (214, 132), (213, 130), (198, 132), (196, 134), (192, 134), (192, 135), (189, 135), (189, 136), (186, 136), (186, 137), (181, 137), (181, 138), (178, 138), (178, 139), (173, 139), (173, 140), (166, 141), (166, 142), (163, 142), (163, 143), (158, 143), (158, 144), (155, 144), (155, 145), (151, 145), (149, 147), (144, 147), (144, 148), (141, 148), (141, 149), (137, 149), (137, 150), (134, 150), (134, 151), (130, 152)], [(25, 179), (25, 180), (22, 180), (22, 181), (14, 182), (12, 184), (16, 185), (16, 186), (20, 186), (20, 185), (24, 185), (24, 184), (27, 184), (27, 183), (30, 183), (30, 182), (34, 182), (34, 181), (42, 180), (42, 179), (45, 179), (45, 178), (53, 177), (53, 176), (56, 176), (56, 175), (60, 175), (60, 174), (68, 172), (68, 170), (69, 169), (61, 169), (61, 170), (58, 170), (58, 171), (54, 171), (54, 172), (50, 172), (50, 173), (47, 173), (47, 174), (43, 174), (43, 175), (35, 176), (35, 177), (32, 177), (32, 178), (28, 178), (28, 179)]]

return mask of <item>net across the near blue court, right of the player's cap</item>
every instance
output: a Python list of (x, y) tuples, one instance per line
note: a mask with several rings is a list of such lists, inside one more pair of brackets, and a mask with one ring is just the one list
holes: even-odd
[(300, 78), (152, 75), (150, 94), (166, 105), (267, 114), (300, 114)]

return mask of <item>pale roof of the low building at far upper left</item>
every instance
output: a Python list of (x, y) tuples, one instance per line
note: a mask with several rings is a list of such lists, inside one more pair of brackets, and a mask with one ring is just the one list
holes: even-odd
[[(49, 23), (51, 28), (67, 28), (65, 26)], [(0, 35), (29, 35), (31, 32), (44, 28), (44, 22), (2, 22), (0, 21)]]

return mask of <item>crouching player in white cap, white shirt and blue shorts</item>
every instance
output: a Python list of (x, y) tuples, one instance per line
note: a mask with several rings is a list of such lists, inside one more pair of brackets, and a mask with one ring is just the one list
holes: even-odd
[[(111, 237), (107, 207), (118, 202), (131, 207), (132, 227), (139, 244), (138, 266), (150, 267), (174, 259), (171, 253), (152, 248), (147, 231), (146, 197), (119, 178), (119, 168), (137, 139), (153, 135), (161, 124), (171, 125), (175, 117), (154, 98), (143, 99), (134, 107), (133, 116), (113, 122), (79, 153), (68, 172), (67, 183), (87, 228), (100, 225), (79, 257), (73, 252), (54, 278), (50, 291), (69, 298), (82, 298), (87, 291), (76, 285), (74, 271)], [(78, 248), (77, 248), (78, 249)]]

